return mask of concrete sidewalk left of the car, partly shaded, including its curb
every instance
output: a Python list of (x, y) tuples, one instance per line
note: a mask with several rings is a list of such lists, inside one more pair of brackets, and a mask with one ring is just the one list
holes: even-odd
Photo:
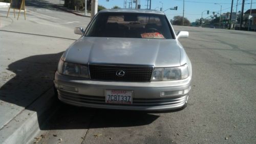
[[(63, 51), (78, 39), (73, 29), (28, 9), (19, 20), (1, 8), (0, 143), (26, 143), (53, 102), (53, 76)], [(35, 103), (37, 103), (35, 105)], [(54, 103), (53, 103), (54, 104)]]

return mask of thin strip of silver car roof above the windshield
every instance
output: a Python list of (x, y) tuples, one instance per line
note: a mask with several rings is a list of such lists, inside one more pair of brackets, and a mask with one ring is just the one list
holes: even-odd
[(162, 14), (164, 15), (163, 12), (158, 11), (158, 10), (148, 10), (148, 9), (104, 9), (100, 10), (99, 13), (104, 13), (104, 12), (121, 12), (121, 13), (150, 13), (150, 14)]

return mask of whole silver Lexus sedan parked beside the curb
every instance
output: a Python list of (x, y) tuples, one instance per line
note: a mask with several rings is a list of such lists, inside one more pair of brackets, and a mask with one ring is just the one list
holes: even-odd
[(54, 84), (64, 103), (106, 109), (187, 105), (191, 62), (164, 13), (101, 10), (61, 56)]

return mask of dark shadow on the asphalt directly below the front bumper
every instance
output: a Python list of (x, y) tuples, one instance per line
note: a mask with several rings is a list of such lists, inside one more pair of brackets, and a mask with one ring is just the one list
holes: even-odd
[(95, 109), (62, 104), (56, 114), (41, 129), (63, 130), (144, 126), (151, 124), (158, 117), (159, 115), (142, 111)]

